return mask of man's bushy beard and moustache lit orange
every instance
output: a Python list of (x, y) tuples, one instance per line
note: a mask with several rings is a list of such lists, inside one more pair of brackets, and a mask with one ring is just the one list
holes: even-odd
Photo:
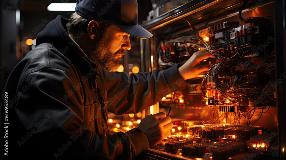
[(105, 33), (103, 33), (102, 35), (102, 38), (96, 44), (96, 49), (92, 51), (89, 57), (101, 68), (106, 69), (110, 72), (115, 72), (120, 66), (121, 61), (121, 57), (118, 57), (118, 55), (124, 55), (125, 49), (120, 48), (115, 53), (111, 52), (109, 49), (110, 46), (107, 45)]

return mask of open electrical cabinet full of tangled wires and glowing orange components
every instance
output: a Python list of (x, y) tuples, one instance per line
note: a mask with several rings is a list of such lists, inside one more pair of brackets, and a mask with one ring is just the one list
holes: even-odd
[[(278, 159), (275, 89), (279, 81), (275, 80), (273, 11), (267, 10), (273, 2), (256, 7), (255, 1), (240, 2), (224, 1), (202, 7), (197, 11), (200, 16), (186, 13), (169, 24), (145, 26), (153, 33), (154, 69), (184, 63), (202, 50), (215, 57), (200, 62), (210, 69), (176, 91), (171, 135), (152, 152), (174, 154), (177, 159)], [(223, 6), (225, 12), (218, 9)], [(210, 19), (212, 14), (217, 17)], [(160, 111), (168, 113), (172, 97), (169, 93), (159, 101)]]

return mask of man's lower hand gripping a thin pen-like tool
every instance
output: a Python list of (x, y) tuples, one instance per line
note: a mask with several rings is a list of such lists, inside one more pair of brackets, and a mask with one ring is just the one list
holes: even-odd
[(149, 147), (152, 147), (168, 137), (172, 127), (171, 118), (166, 117), (166, 113), (160, 112), (143, 118), (137, 128), (145, 133), (149, 141)]

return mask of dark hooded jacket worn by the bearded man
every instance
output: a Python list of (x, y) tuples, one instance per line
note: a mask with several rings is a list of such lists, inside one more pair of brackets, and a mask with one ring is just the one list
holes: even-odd
[[(9, 157), (141, 157), (148, 150), (146, 135), (134, 128), (110, 137), (107, 113), (137, 113), (168, 93), (183, 89), (188, 83), (178, 73), (180, 65), (130, 75), (106, 71), (69, 37), (67, 22), (62, 16), (49, 22), (37, 35), (37, 47), (17, 64), (7, 80), (1, 115), (6, 105), (9, 118), (3, 121), (1, 117), (1, 121), (9, 123)], [(78, 37), (82, 34), (78, 32)]]

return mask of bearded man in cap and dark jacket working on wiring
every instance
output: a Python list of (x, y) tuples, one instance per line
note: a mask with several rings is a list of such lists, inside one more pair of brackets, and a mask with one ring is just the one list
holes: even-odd
[(57, 16), (47, 24), (3, 91), (1, 109), (5, 93), (16, 98), (8, 109), (10, 157), (135, 159), (170, 134), (170, 117), (157, 113), (110, 137), (107, 113), (137, 113), (185, 88), (184, 80), (209, 68), (197, 64), (212, 56), (200, 51), (164, 71), (113, 72), (131, 49), (130, 35), (152, 36), (137, 24), (136, 0), (79, 0), (69, 20)]

